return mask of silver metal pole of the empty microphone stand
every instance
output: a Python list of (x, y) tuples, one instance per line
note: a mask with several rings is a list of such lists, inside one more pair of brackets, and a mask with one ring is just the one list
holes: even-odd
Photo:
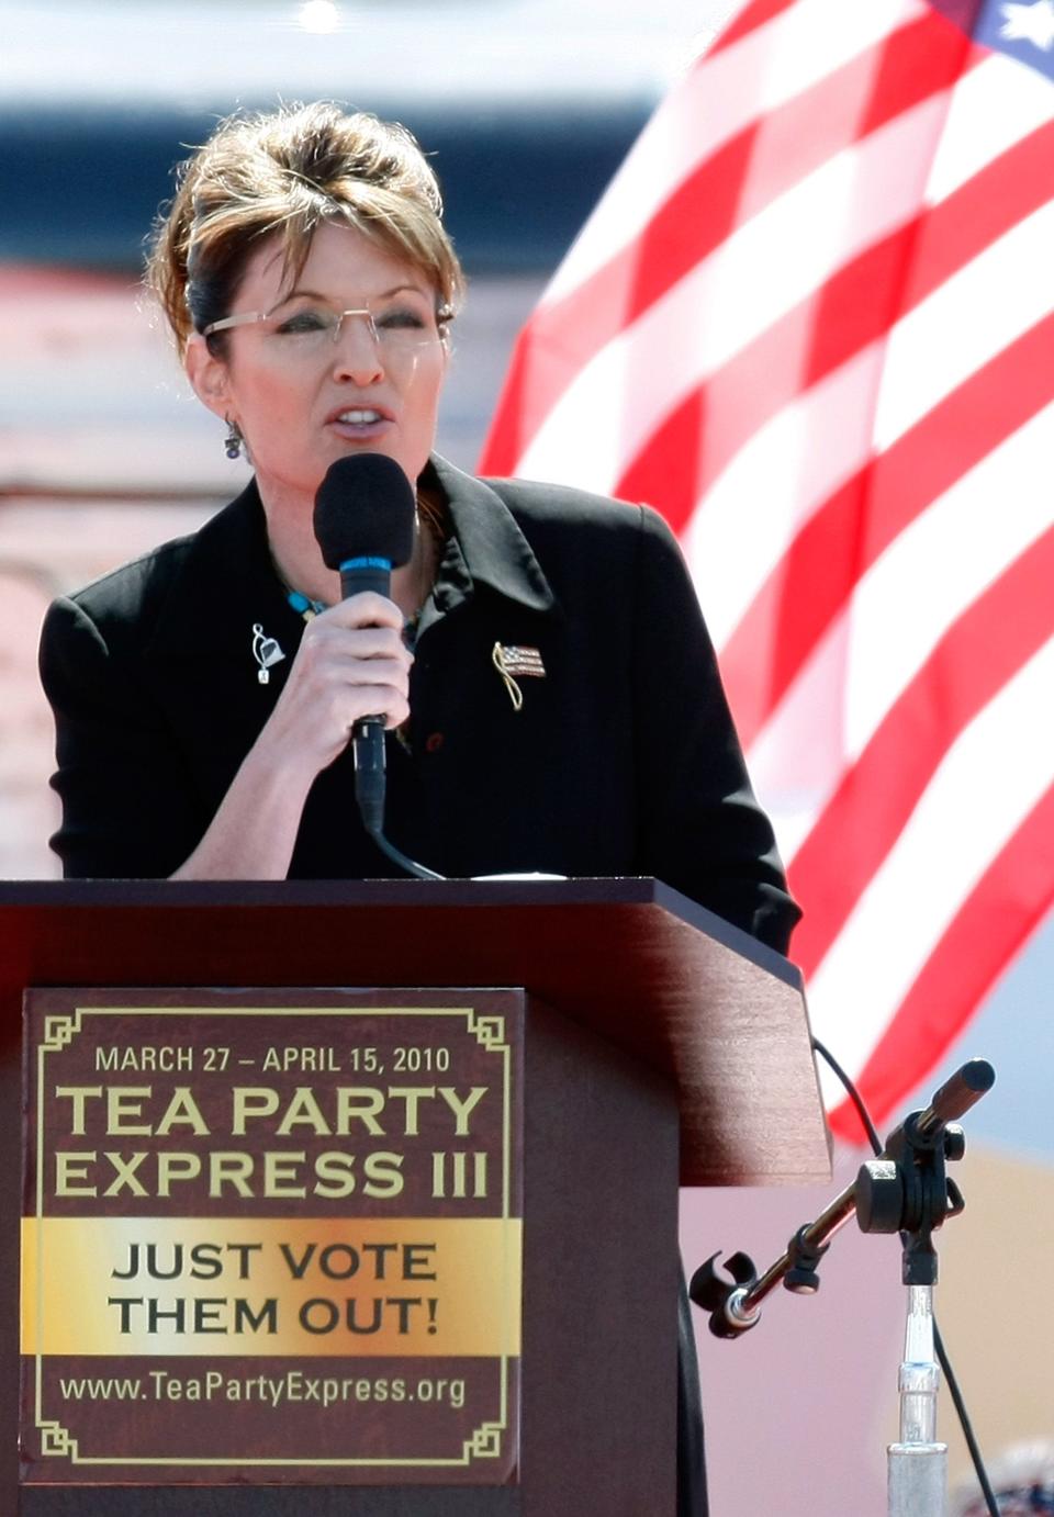
[(948, 1444), (936, 1441), (940, 1370), (933, 1346), (931, 1285), (908, 1285), (899, 1388), (901, 1440), (887, 1449), (889, 1517), (945, 1517)]

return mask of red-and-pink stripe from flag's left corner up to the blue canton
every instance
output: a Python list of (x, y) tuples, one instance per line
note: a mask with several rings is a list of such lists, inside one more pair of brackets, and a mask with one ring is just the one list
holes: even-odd
[[(752, 123), (722, 144), (672, 188), (638, 238), (534, 313), (516, 344), (481, 472), (510, 472), (578, 372), (713, 253), (737, 223), (843, 147), (948, 90), (969, 49), (954, 27), (934, 26), (931, 17), (913, 21), (881, 50), (854, 58), (772, 111), (763, 129)], [(918, 64), (921, 56), (925, 67)], [(684, 86), (698, 94), (699, 115), (707, 108), (704, 74)], [(770, 141), (780, 152), (767, 149)], [(866, 309), (867, 302), (857, 300), (857, 306)]]

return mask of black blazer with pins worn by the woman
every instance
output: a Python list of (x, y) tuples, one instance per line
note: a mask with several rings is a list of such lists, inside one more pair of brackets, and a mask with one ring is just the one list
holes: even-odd
[[(661, 517), (438, 458), (429, 472), (452, 536), (419, 628), (411, 722), (387, 739), (391, 840), (446, 875), (654, 874), (786, 948), (798, 909)], [(285, 655), (267, 684), (255, 628)], [(302, 633), (255, 484), (196, 536), (55, 602), (41, 674), (67, 875), (164, 877), (187, 859)], [(496, 645), (540, 655), (544, 675), (517, 675), (520, 710)], [(344, 754), (308, 796), (290, 877), (393, 872), (358, 821)]]

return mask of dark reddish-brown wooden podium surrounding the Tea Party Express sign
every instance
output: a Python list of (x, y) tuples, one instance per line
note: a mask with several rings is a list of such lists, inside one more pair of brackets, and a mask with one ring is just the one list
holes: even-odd
[[(523, 988), (516, 1484), (18, 1485), (30, 986)], [(798, 971), (655, 880), (0, 884), (0, 1511), (672, 1517), (678, 1183), (830, 1177)]]

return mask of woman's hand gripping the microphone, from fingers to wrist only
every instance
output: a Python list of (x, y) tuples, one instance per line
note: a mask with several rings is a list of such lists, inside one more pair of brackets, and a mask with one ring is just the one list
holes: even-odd
[(402, 625), (399, 607), (369, 590), (308, 622), (285, 689), (256, 740), (271, 763), (314, 780), (344, 751), (361, 718), (384, 716), (385, 727), (406, 721), (414, 657)]

